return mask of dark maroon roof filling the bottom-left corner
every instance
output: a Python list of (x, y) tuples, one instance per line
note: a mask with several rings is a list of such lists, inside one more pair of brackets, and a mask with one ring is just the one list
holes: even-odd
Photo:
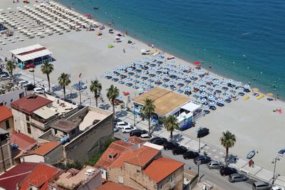
[(37, 165), (38, 163), (24, 162), (12, 167), (0, 175), (0, 186), (6, 190), (16, 190), (16, 184), (21, 184)]

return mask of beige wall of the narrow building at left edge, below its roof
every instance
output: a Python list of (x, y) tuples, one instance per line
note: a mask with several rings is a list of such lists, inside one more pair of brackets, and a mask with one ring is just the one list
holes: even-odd
[(13, 159), (11, 154), (10, 140), (5, 139), (1, 142), (0, 147), (0, 173), (13, 166)]

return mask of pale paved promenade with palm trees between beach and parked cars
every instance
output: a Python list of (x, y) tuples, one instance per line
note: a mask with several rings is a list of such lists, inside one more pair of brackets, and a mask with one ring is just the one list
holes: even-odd
[[(21, 78), (23, 80), (33, 81), (33, 75), (31, 73), (26, 73), (23, 70), (19, 70), (17, 73), (21, 74)], [(36, 84), (41, 83), (44, 84), (46, 88), (48, 87), (48, 82), (46, 81), (46, 79), (38, 78), (38, 76), (35, 75), (35, 80)], [(57, 83), (51, 82), (51, 89), (53, 89), (53, 92), (56, 93), (56, 95), (63, 97), (63, 91)], [(80, 102), (77, 90), (66, 88), (66, 96), (68, 98), (71, 98), (74, 102)], [(81, 102), (83, 103), (83, 105), (95, 106), (95, 99), (93, 98), (93, 94), (90, 92), (88, 93), (88, 91), (86, 90), (81, 93)], [(110, 105), (109, 102), (99, 102), (99, 107), (112, 111), (112, 105)], [(133, 113), (125, 112), (124, 110), (120, 110), (119, 108), (116, 108), (116, 112), (116, 116), (119, 117), (121, 120), (124, 120), (126, 122), (129, 122), (131, 125), (134, 125)], [(142, 121), (138, 115), (136, 116), (135, 120), (135, 127), (143, 130), (148, 130), (147, 120)], [(162, 126), (159, 125), (152, 125), (152, 135), (170, 139), (170, 132), (167, 132)], [(195, 152), (197, 152), (199, 149), (199, 139), (190, 137), (179, 130), (175, 130), (173, 132), (173, 140), (175, 142), (178, 142), (182, 146), (187, 147), (187, 149), (191, 149)], [(219, 162), (224, 162), (224, 157), (226, 155), (225, 149), (220, 149), (212, 144), (207, 144), (206, 142), (202, 141), (200, 143), (200, 147), (201, 154), (203, 154), (203, 152), (207, 152), (207, 155), (212, 159), (217, 160)], [(264, 169), (263, 167), (257, 164), (254, 164), (254, 167), (249, 167), (247, 159), (244, 159), (242, 157), (238, 157), (237, 162), (231, 163), (229, 164), (229, 166), (234, 167), (239, 171), (245, 172), (249, 174), (249, 176), (252, 176), (253, 178), (261, 181), (271, 181), (273, 176), (273, 171)], [(285, 176), (279, 176), (278, 179), (276, 179), (276, 181), (274, 182), (274, 184), (279, 186), (285, 186)]]

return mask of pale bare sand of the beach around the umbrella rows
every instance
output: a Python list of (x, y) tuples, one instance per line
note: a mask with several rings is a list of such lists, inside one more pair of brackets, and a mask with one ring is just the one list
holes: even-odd
[[(24, 8), (25, 4), (12, 4), (11, 0), (2, 0), (1, 9), (8, 14), (7, 8), (17, 11), (16, 7)], [(33, 4), (28, 4), (33, 7)], [(106, 71), (112, 71), (113, 68), (120, 68), (120, 65), (129, 65), (136, 60), (143, 60), (145, 56), (141, 54), (141, 50), (154, 49), (147, 46), (130, 36), (122, 38), (121, 43), (114, 43), (115, 34), (108, 33), (109, 28), (103, 30), (103, 34), (99, 39), (96, 31), (71, 31), (58, 35), (54, 33), (51, 36), (44, 38), (24, 38), (24, 41), (16, 43), (7, 43), (1, 45), (0, 56), (10, 57), (9, 51), (16, 48), (31, 46), (39, 43), (53, 52), (54, 71), (51, 73), (51, 80), (57, 82), (57, 78), (61, 73), (71, 74), (71, 84), (78, 83), (82, 80), (89, 86), (90, 80), (98, 78), (103, 85), (102, 94), (105, 95), (105, 90), (110, 84), (118, 86), (120, 92), (130, 92), (131, 97), (138, 96), (138, 90), (120, 85), (112, 80), (105, 78)], [(21, 35), (16, 32), (16, 35)], [(1, 39), (2, 37), (0, 37)], [(134, 44), (128, 44), (128, 40)], [(113, 44), (114, 48), (108, 48), (109, 44)], [(125, 53), (123, 53), (125, 50)], [(172, 56), (165, 53), (165, 58)], [(173, 55), (175, 56), (175, 55)], [(150, 57), (149, 57), (150, 58)], [(175, 58), (176, 65), (187, 65), (192, 68), (195, 66), (192, 63), (187, 63), (185, 60)], [(17, 70), (20, 70), (17, 68)], [(26, 71), (28, 72), (28, 70)], [(210, 70), (204, 69), (204, 72), (211, 73)], [(81, 78), (78, 75), (81, 73)], [(46, 78), (40, 70), (40, 66), (36, 66), (35, 74)], [(217, 76), (222, 81), (222, 76)], [(224, 78), (224, 80), (228, 80)], [(247, 81), (243, 81), (247, 83)], [(198, 83), (198, 82), (197, 82)], [(168, 89), (169, 90), (169, 89)], [(85, 93), (90, 94), (89, 90)], [(122, 93), (121, 93), (122, 95)], [(281, 100), (268, 101), (266, 97), (257, 100), (257, 97), (248, 93), (249, 100), (243, 100), (240, 97), (237, 101), (224, 103), (224, 107), (217, 107), (217, 110), (211, 111), (209, 115), (205, 115), (197, 122), (197, 127), (204, 126), (210, 130), (210, 135), (202, 139), (203, 142), (214, 144), (221, 147), (219, 137), (222, 132), (229, 130), (237, 137), (237, 143), (230, 152), (246, 157), (251, 149), (256, 149), (259, 154), (254, 157), (255, 164), (259, 164), (266, 169), (273, 170), (274, 165), (271, 164), (272, 159), (276, 157), (276, 153), (280, 149), (284, 149), (285, 139), (283, 138), (285, 115), (273, 112), (277, 108), (285, 109), (285, 102)], [(122, 95), (123, 96), (123, 95)], [(123, 98), (126, 98), (123, 96)], [(195, 129), (186, 130), (185, 134), (196, 137)], [(277, 172), (285, 174), (285, 159), (281, 158)]]

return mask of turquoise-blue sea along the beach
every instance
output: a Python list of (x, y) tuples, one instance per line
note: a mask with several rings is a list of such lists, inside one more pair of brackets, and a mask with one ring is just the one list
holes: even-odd
[[(59, 0), (145, 43), (285, 99), (284, 0)], [(98, 6), (98, 10), (93, 7)], [(276, 88), (276, 89), (275, 89)]]

